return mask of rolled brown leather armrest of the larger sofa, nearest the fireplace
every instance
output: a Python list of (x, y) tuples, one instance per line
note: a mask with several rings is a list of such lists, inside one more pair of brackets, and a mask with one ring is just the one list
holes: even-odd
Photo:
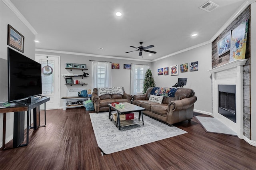
[(197, 100), (197, 97), (192, 96), (192, 97), (184, 98), (184, 99), (181, 99), (181, 100), (171, 101), (168, 104), (168, 108), (172, 109), (173, 111), (181, 111), (181, 110), (184, 110), (184, 109), (188, 109), (189, 107), (194, 105), (196, 100)]

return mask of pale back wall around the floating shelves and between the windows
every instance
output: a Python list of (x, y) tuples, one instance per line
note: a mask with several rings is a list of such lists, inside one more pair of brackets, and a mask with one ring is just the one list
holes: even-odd
[[(36, 51), (38, 54), (45, 55), (60, 55), (60, 107), (63, 107), (63, 99), (62, 97), (67, 96), (68, 88), (83, 88), (83, 89), (92, 89), (92, 61), (111, 61), (112, 63), (119, 63), (120, 69), (112, 69), (112, 86), (113, 87), (124, 87), (126, 93), (130, 94), (130, 70), (124, 69), (124, 64), (148, 64), (151, 66), (151, 62), (143, 62), (143, 61), (132, 61), (132, 60), (124, 60), (124, 59), (111, 59), (111, 58), (103, 58), (103, 57), (91, 57), (86, 55), (75, 55), (75, 54), (67, 54), (67, 53), (50, 53), (50, 52), (42, 52)], [(78, 80), (82, 80), (84, 83), (88, 83), (88, 85), (80, 86), (80, 85), (64, 85), (65, 78), (61, 76), (61, 74), (66, 73), (74, 73), (74, 74), (82, 74), (81, 70), (72, 70), (65, 69), (66, 63), (78, 63), (78, 64), (86, 64), (88, 70), (85, 70), (85, 73), (89, 74), (89, 77), (85, 77), (83, 79), (78, 78)], [(73, 79), (75, 79), (73, 77)]]

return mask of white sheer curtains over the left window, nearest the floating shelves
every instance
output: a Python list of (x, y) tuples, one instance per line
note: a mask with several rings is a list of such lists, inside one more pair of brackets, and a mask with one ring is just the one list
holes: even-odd
[(92, 87), (112, 87), (110, 62), (92, 62)]

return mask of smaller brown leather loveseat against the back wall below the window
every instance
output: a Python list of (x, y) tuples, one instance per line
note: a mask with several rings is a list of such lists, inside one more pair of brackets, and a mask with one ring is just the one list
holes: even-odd
[(100, 111), (108, 111), (108, 103), (113, 102), (128, 102), (132, 103), (132, 95), (129, 95), (125, 93), (124, 87), (123, 89), (123, 95), (121, 94), (105, 94), (98, 96), (98, 89), (94, 88), (92, 92), (92, 102), (94, 104), (94, 110), (96, 113)]

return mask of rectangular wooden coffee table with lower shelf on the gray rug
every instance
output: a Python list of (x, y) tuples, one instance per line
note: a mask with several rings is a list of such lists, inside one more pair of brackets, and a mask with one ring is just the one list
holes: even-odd
[[(142, 123), (142, 125), (144, 125), (144, 121), (143, 121), (143, 113), (142, 111), (145, 111), (146, 109), (144, 109), (143, 107), (139, 107), (137, 105), (133, 105), (131, 103), (122, 103), (124, 104), (124, 108), (123, 109), (118, 109), (114, 106), (111, 105), (111, 103), (108, 104), (108, 118), (110, 119), (110, 116), (112, 115), (111, 109), (117, 111), (117, 120), (116, 120), (116, 127), (118, 125), (118, 129), (120, 130), (121, 127), (126, 127), (126, 126), (130, 126), (130, 125), (136, 125), (139, 123)], [(131, 120), (125, 120), (125, 121), (120, 121), (120, 114), (126, 114), (126, 113), (131, 113), (131, 112), (139, 112), (139, 119), (131, 119)], [(140, 121), (140, 115), (142, 118), (142, 121)], [(110, 121), (112, 121), (112, 119), (110, 119)]]

